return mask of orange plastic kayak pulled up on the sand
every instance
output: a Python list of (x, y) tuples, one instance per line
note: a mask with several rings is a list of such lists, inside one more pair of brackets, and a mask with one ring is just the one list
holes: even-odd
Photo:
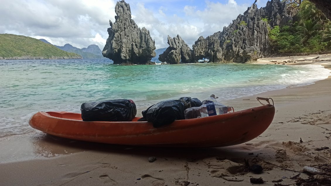
[(47, 134), (100, 143), (155, 147), (224, 147), (250, 141), (264, 132), (275, 114), (273, 105), (195, 119), (175, 120), (154, 128), (147, 121), (83, 121), (70, 112), (38, 112), (29, 124)]

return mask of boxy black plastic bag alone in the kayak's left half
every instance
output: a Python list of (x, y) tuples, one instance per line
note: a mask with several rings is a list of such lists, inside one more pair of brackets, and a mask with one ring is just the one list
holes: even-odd
[(83, 121), (131, 121), (137, 114), (136, 104), (128, 99), (83, 103), (80, 110)]

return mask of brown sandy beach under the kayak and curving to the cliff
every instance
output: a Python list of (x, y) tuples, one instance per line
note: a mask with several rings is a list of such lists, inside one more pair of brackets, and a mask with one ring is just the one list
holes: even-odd
[[(331, 55), (287, 56), (258, 63), (330, 68), (329, 60)], [(0, 185), (252, 185), (250, 179), (260, 177), (263, 185), (295, 185), (312, 178), (302, 185), (331, 185), (331, 149), (327, 149), (331, 147), (331, 79), (223, 103), (247, 109), (260, 106), (257, 96), (274, 100), (274, 120), (259, 137), (230, 147), (130, 147), (62, 139), (38, 131), (2, 138)], [(325, 148), (316, 149), (321, 147)], [(157, 160), (149, 163), (150, 157)], [(263, 172), (244, 171), (244, 160), (261, 165)], [(309, 177), (304, 166), (319, 167), (324, 174)]]

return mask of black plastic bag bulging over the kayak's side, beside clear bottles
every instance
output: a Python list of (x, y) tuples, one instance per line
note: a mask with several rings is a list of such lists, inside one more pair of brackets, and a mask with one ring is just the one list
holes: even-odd
[(143, 111), (143, 118), (139, 121), (147, 120), (152, 122), (154, 127), (160, 127), (174, 120), (185, 119), (184, 111), (185, 104), (180, 100), (162, 101)]

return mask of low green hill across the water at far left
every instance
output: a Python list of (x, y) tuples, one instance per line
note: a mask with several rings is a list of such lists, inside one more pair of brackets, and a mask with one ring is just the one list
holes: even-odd
[(44, 43), (32, 37), (14, 34), (0, 34), (0, 57), (43, 57), (48, 58), (81, 58), (75, 53), (69, 53)]

